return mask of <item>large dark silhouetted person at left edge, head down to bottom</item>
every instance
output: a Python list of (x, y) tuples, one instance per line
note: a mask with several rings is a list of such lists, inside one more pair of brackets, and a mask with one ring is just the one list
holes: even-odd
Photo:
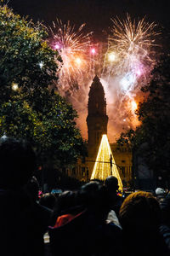
[[(8, 138), (0, 141), (0, 253), (43, 255), (43, 234), (48, 227), (48, 212), (39, 207), (31, 177), (36, 156), (25, 141)], [(33, 194), (32, 194), (33, 193)]]

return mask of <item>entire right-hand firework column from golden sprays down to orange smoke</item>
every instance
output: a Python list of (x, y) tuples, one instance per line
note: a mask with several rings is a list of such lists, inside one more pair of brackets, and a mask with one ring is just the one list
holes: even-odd
[(139, 125), (134, 113), (138, 108), (135, 98), (156, 64), (154, 49), (159, 32), (156, 23), (132, 20), (129, 15), (126, 20), (116, 18), (112, 22), (102, 77), (114, 91), (112, 112), (118, 111), (116, 124), (134, 128)]

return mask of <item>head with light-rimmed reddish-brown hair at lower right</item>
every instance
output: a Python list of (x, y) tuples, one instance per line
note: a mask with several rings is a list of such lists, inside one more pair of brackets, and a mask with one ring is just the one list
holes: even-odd
[(128, 195), (119, 212), (122, 229), (127, 232), (157, 230), (161, 221), (161, 208), (149, 192)]

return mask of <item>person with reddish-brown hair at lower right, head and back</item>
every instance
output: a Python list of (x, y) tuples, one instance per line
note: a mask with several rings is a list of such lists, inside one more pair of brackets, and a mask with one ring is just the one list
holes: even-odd
[(119, 212), (124, 255), (169, 255), (161, 236), (161, 208), (156, 198), (139, 191), (128, 195)]

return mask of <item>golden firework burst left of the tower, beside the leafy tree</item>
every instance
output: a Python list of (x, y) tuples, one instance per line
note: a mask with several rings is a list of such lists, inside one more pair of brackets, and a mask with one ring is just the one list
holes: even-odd
[(77, 90), (84, 74), (88, 74), (89, 69), (89, 49), (92, 32), (86, 34), (82, 30), (85, 24), (75, 29), (70, 21), (63, 24), (61, 20), (53, 22), (50, 27), (52, 38), (50, 44), (61, 56), (62, 62), (57, 61), (59, 65), (59, 84), (60, 91)]

